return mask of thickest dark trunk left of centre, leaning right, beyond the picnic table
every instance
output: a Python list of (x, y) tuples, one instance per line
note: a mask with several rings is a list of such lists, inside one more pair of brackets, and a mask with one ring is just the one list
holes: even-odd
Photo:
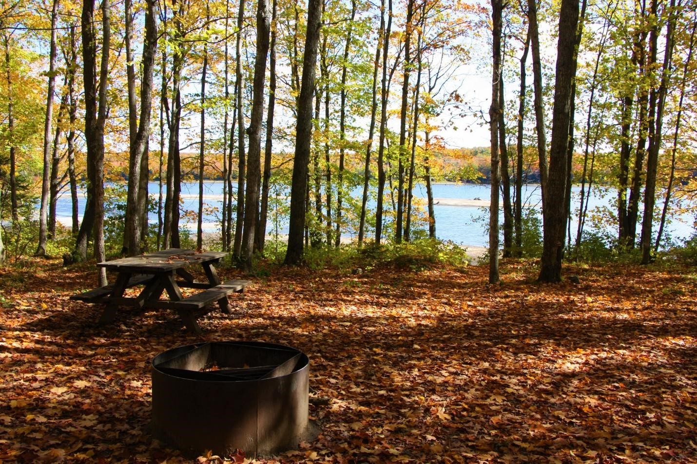
[(304, 251), (302, 233), (305, 229), (305, 192), (307, 190), (307, 164), (312, 138), (312, 93), (314, 73), (321, 28), (322, 0), (308, 0), (305, 56), (302, 59), (302, 84), (298, 98), (298, 125), (296, 127), (296, 153), (293, 160), (291, 184), (291, 218), (289, 224), (286, 265), (298, 265)]

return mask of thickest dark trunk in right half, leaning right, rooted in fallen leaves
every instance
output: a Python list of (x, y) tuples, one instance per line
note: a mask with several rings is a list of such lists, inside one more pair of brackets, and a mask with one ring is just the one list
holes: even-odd
[[(554, 86), (554, 109), (552, 113), (552, 141), (550, 147), (549, 178), (543, 190), (544, 240), (542, 268), (538, 280), (561, 281), (562, 257), (564, 254), (566, 205), (563, 199), (568, 179), (567, 155), (569, 148), (569, 114), (572, 107), (572, 82), (574, 79), (574, 50), (576, 35), (563, 31), (576, 31), (579, 22), (577, 0), (562, 0), (559, 17), (559, 40), (557, 45), (556, 82)], [(556, 200), (556, 201), (555, 201)]]

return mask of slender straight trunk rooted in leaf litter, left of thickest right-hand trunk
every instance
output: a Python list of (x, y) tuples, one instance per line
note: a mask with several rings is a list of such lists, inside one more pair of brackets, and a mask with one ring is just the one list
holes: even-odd
[(499, 133), (500, 85), (501, 85), (501, 26), (503, 2), (491, 0), (493, 45), (491, 65), (491, 107), (489, 107), (489, 131), (491, 132), (491, 206), (489, 208), (489, 284), (496, 284), (498, 276), (498, 187), (499, 187)]

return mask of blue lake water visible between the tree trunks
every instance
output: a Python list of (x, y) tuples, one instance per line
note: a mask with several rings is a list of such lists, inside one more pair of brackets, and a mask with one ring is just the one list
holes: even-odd
[[(204, 183), (204, 206), (210, 208), (210, 211), (204, 215), (204, 231), (206, 232), (219, 232), (220, 231), (220, 209), (222, 208), (222, 187), (223, 184), (220, 182), (206, 182)], [(150, 183), (149, 187), (151, 195), (158, 195), (158, 183)], [(484, 247), (488, 245), (489, 235), (487, 233), (488, 224), (488, 208), (484, 208), (483, 205), (488, 205), (489, 198), (491, 195), (491, 187), (489, 185), (479, 185), (479, 184), (434, 184), (434, 197), (437, 202), (435, 205), (435, 215), (436, 215), (436, 235), (442, 240), (452, 240), (453, 242), (462, 245), (474, 245)], [(198, 210), (199, 201), (199, 185), (198, 183), (184, 183), (182, 185), (182, 203), (181, 208), (183, 210)], [(572, 210), (577, 210), (579, 205), (579, 192), (581, 187), (574, 186), (574, 198)], [(360, 206), (360, 195), (362, 190), (358, 189), (353, 192), (353, 197), (355, 198), (354, 203)], [(279, 199), (280, 204), (286, 203), (286, 197), (289, 196), (289, 190), (281, 190), (278, 192), (270, 193), (271, 196), (275, 196)], [(425, 209), (425, 198), (426, 198), (426, 188), (423, 185), (416, 185), (414, 188), (415, 203), (421, 203)], [(539, 185), (526, 185), (523, 186), (523, 203), (526, 203), (538, 211), (541, 207), (540, 201), (540, 190)], [(386, 197), (388, 198), (388, 197)], [(606, 189), (603, 194), (595, 188), (591, 191), (590, 202), (588, 207), (589, 215), (600, 215), (603, 210), (614, 211), (616, 194), (614, 190)], [(471, 200), (463, 202), (463, 200)], [(481, 201), (476, 201), (481, 200)], [(659, 204), (662, 205), (662, 198), (657, 199)], [(82, 208), (84, 208), (84, 196), (81, 195), (80, 202), (80, 215), (82, 216)], [(344, 215), (350, 215), (351, 212), (348, 210), (347, 203), (348, 199), (344, 201)], [(462, 203), (474, 206), (456, 206)], [(369, 202), (369, 208), (372, 208), (372, 219), (374, 221), (374, 208), (375, 201)], [(385, 200), (385, 208), (391, 208), (391, 203), (389, 199)], [(57, 216), (59, 221), (63, 224), (70, 224), (71, 206), (70, 206), (70, 196), (64, 193), (58, 202)], [(270, 208), (268, 220), (267, 233), (275, 233), (277, 231), (280, 234), (287, 233), (288, 231), (288, 218), (287, 215), (281, 215), (281, 219), (275, 223), (273, 221), (273, 207)], [(419, 216), (423, 216), (420, 213)], [(157, 224), (158, 217), (156, 213), (151, 213), (149, 216), (151, 223)], [(666, 228), (666, 233), (670, 233), (675, 239), (689, 238), (694, 233), (693, 226), (693, 216), (689, 214), (683, 214), (680, 217), (673, 218), (672, 222), (668, 224)], [(503, 217), (501, 219), (503, 222)], [(356, 221), (358, 222), (358, 221)], [(599, 219), (600, 224), (612, 224), (610, 219)], [(416, 222), (418, 228), (426, 228), (424, 222)], [(182, 226), (185, 226), (192, 231), (196, 230), (195, 219), (194, 222), (185, 223), (182, 219)], [(606, 226), (602, 226), (606, 227)], [(592, 229), (592, 224), (590, 224), (590, 219), (586, 219), (585, 229)], [(615, 232), (615, 226), (611, 225), (607, 227), (609, 233), (613, 235)], [(344, 236), (350, 237), (355, 236), (355, 231), (344, 231)], [(372, 231), (367, 232), (368, 237), (372, 236)], [(576, 224), (572, 224), (572, 240), (576, 237)]]

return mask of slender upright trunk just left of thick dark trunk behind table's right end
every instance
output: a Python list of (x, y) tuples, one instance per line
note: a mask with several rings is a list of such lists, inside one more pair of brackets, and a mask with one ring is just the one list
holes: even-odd
[(238, 123), (238, 171), (237, 171), (237, 215), (235, 223), (235, 242), (233, 243), (233, 258), (242, 258), (242, 233), (245, 222), (245, 178), (247, 177), (247, 157), (245, 155), (245, 114), (243, 111), (243, 96), (245, 89), (242, 72), (242, 28), (245, 20), (245, 0), (240, 0), (240, 10), (237, 17), (236, 42), (236, 93), (237, 93), (237, 123)]

